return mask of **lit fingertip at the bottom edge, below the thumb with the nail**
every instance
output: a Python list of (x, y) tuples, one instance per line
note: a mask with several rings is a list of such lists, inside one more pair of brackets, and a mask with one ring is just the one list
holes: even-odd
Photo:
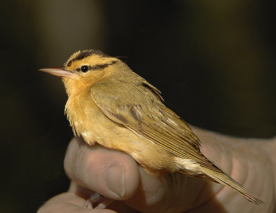
[(50, 198), (44, 203), (38, 213), (46, 212), (93, 212), (93, 213), (115, 213), (112, 210), (87, 210), (83, 208), (85, 200), (75, 193), (66, 192)]

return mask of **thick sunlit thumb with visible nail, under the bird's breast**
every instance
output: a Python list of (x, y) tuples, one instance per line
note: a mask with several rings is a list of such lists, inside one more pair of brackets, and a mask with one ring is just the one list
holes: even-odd
[(70, 142), (64, 168), (81, 187), (111, 199), (131, 198), (139, 186), (139, 170), (133, 158), (100, 145), (90, 147), (82, 138)]

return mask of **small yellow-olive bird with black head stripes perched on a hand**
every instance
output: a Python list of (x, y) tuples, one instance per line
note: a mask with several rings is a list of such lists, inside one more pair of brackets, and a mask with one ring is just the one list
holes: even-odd
[(201, 142), (161, 92), (118, 57), (99, 50), (74, 53), (63, 67), (40, 71), (62, 77), (65, 113), (75, 136), (130, 154), (148, 174), (180, 172), (226, 185), (248, 201), (262, 200), (201, 154)]

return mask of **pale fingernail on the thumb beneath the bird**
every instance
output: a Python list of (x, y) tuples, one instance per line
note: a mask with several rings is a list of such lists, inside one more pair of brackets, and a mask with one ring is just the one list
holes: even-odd
[(106, 186), (110, 191), (123, 197), (125, 190), (125, 169), (121, 166), (109, 167), (103, 176)]

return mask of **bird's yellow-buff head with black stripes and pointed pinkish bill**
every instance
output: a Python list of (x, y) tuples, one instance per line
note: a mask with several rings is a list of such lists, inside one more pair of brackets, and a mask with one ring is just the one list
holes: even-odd
[(68, 95), (82, 91), (104, 77), (116, 73), (116, 66), (126, 66), (117, 57), (99, 50), (78, 51), (61, 67), (41, 68), (39, 71), (62, 77)]

